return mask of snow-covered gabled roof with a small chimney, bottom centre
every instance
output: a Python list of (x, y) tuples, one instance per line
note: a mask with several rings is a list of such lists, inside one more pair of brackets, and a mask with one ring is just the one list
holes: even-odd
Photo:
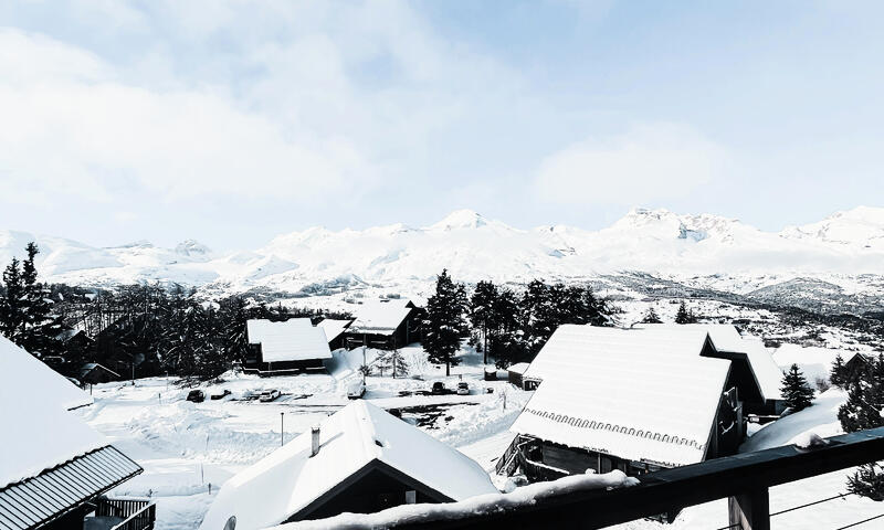
[(311, 457), (303, 433), (228, 480), (200, 528), (218, 530), (231, 516), (238, 530), (280, 524), (373, 460), (463, 500), (494, 494), (488, 475), (457, 449), (359, 400), (325, 418)]

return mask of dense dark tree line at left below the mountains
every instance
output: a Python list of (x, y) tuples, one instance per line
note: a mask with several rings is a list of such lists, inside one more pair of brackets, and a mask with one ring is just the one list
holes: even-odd
[[(243, 362), (252, 318), (318, 320), (323, 310), (253, 304), (241, 296), (209, 300), (180, 285), (84, 289), (38, 280), (35, 244), (12, 258), (0, 286), (0, 332), (64, 375), (98, 362), (122, 377), (173, 374), (211, 379)], [(78, 332), (80, 331), (80, 332)]]

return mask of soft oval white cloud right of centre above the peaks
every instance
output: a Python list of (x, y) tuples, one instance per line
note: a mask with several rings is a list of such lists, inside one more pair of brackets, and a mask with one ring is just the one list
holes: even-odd
[(723, 147), (688, 126), (646, 124), (548, 156), (535, 186), (556, 203), (642, 204), (712, 182), (727, 169), (727, 158)]

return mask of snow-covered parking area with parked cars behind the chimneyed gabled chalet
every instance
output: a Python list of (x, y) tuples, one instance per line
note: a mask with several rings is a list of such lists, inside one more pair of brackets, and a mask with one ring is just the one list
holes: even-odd
[[(449, 445), (465, 446), (464, 453), (492, 468), (508, 444), (506, 430), (529, 393), (505, 381), (484, 381), (482, 358), (472, 350), (462, 351), (463, 364), (454, 367), (449, 378), (444, 367), (427, 362), (419, 347), (402, 352), (414, 373), (406, 379), (369, 377), (365, 399), (387, 410), (399, 409), (406, 421)], [(369, 362), (376, 353), (367, 352)], [(157, 499), (158, 530), (193, 529), (228, 478), (280, 446), (283, 424), (284, 439), (290, 441), (348, 403), (346, 389), (358, 377), (361, 357), (361, 350), (335, 352), (329, 374), (263, 379), (231, 374), (223, 383), (200, 386), (207, 394), (203, 403), (186, 401), (191, 389), (166, 378), (137, 380), (134, 386), (96, 385), (95, 404), (81, 414), (145, 468), (114, 495)], [(427, 390), (440, 380), (448, 388), (466, 381), (471, 393), (399, 395)], [(248, 391), (264, 389), (278, 389), (282, 396), (272, 403), (242, 400)], [(223, 390), (231, 394), (209, 399)]]

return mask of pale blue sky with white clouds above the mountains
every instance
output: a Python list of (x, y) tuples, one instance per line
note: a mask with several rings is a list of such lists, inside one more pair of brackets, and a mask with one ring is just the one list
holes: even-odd
[(2, 1), (0, 230), (256, 247), (472, 209), (884, 205), (884, 3)]

